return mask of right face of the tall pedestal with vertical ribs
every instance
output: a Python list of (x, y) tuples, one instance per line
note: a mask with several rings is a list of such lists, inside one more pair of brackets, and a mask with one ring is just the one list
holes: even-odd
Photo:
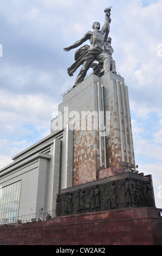
[(105, 88), (105, 111), (111, 113), (111, 133), (106, 143), (108, 167), (119, 169), (122, 162), (135, 166), (128, 88), (124, 78), (108, 72), (101, 77), (101, 84)]

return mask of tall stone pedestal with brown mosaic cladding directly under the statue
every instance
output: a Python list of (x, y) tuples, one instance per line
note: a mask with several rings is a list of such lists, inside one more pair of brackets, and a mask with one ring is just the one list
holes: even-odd
[(72, 186), (98, 180), (102, 169), (130, 170), (135, 165), (128, 90), (121, 76), (111, 71), (90, 75), (63, 95), (58, 120), (60, 129), (68, 124), (74, 129)]

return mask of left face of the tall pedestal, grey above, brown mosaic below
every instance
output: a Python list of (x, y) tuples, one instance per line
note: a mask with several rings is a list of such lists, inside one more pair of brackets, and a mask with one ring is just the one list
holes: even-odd
[[(96, 180), (96, 170), (99, 163), (99, 134), (90, 129), (90, 121), (86, 123), (81, 113), (98, 113), (98, 88), (100, 78), (90, 76), (63, 96), (59, 105), (59, 113), (63, 115), (63, 125), (68, 123), (74, 126), (73, 142), (73, 186)], [(89, 127), (88, 127), (89, 125)]]

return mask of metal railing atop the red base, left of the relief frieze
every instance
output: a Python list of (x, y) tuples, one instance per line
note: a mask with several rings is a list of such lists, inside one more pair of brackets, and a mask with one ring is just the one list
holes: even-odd
[(35, 214), (27, 214), (27, 215), (19, 215), (16, 217), (3, 218), (0, 220), (0, 225), (5, 224), (5, 220), (7, 220), (7, 224), (17, 224), (17, 223), (27, 223), (27, 222), (36, 222), (36, 221), (46, 221), (49, 218), (54, 217), (53, 211), (40, 211)]

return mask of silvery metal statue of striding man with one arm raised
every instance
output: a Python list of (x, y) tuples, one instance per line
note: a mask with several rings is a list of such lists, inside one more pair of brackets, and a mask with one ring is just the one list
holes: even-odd
[(109, 24), (111, 22), (111, 8), (106, 9), (105, 14), (105, 23), (100, 31), (100, 23), (94, 22), (93, 29), (94, 32), (88, 31), (80, 40), (76, 41), (73, 45), (64, 48), (64, 51), (70, 51), (73, 48), (76, 48), (83, 44), (83, 42), (89, 39), (90, 47), (85, 45), (81, 47), (76, 52), (75, 60), (76, 62), (68, 68), (69, 76), (73, 76), (74, 72), (80, 65), (82, 68), (79, 72), (79, 75), (76, 78), (74, 87), (82, 82), (87, 74), (90, 65), (93, 63), (94, 60), (98, 60), (99, 62), (103, 63), (103, 70), (104, 73), (110, 70), (110, 58), (109, 55), (102, 50), (102, 45), (104, 41), (104, 34), (107, 32), (109, 33)]

